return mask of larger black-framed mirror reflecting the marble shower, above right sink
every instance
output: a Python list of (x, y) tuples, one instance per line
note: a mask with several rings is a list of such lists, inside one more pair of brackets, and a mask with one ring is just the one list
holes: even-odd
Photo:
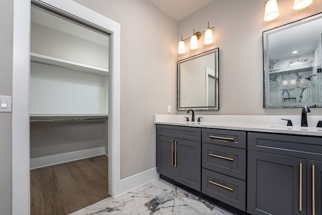
[(322, 14), (263, 32), (264, 108), (322, 107)]

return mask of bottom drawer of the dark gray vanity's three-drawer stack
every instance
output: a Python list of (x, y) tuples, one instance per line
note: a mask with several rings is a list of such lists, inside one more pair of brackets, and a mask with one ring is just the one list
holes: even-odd
[(246, 182), (202, 168), (201, 192), (246, 210)]

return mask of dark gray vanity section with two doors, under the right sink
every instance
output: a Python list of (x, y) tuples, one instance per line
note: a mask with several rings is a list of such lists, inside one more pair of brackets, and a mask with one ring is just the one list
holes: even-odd
[(247, 212), (322, 214), (321, 162), (320, 137), (248, 132)]

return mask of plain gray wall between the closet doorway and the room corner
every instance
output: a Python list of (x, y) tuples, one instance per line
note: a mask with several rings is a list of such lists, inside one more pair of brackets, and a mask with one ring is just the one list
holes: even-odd
[(153, 168), (153, 115), (177, 103), (178, 23), (148, 0), (75, 2), (121, 24), (121, 178)]

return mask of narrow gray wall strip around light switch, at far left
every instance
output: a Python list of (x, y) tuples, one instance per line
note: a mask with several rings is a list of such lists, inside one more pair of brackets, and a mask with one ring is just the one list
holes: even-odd
[[(13, 1), (0, 7), (0, 95), (12, 96)], [(12, 114), (0, 112), (0, 214), (11, 214), (12, 202)]]

